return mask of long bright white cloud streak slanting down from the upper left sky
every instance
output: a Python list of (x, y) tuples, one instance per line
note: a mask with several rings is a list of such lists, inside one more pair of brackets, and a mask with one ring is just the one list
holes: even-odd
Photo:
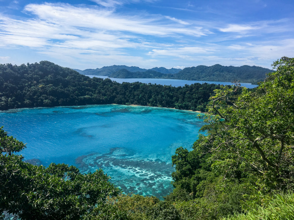
[(25, 10), (41, 20), (66, 26), (93, 28), (103, 31), (124, 31), (143, 35), (192, 35), (203, 36), (210, 31), (202, 27), (183, 28), (182, 26), (160, 24), (160, 18), (125, 16), (111, 10), (74, 7), (68, 4), (29, 4)]

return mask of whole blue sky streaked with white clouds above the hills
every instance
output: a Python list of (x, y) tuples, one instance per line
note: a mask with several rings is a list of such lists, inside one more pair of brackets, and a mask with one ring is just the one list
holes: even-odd
[(0, 0), (0, 63), (185, 68), (294, 57), (293, 0)]

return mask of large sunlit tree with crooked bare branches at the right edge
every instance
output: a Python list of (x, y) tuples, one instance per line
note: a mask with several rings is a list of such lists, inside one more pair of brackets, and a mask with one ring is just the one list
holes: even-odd
[(292, 188), (294, 58), (282, 57), (272, 66), (276, 71), (254, 91), (238, 85), (214, 91), (204, 118), (210, 124), (206, 147), (213, 152), (212, 167), (224, 177), (242, 171), (257, 176), (259, 187)]

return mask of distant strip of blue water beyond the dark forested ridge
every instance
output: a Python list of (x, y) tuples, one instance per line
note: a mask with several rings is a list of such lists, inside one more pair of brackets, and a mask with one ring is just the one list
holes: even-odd
[[(131, 79), (121, 79), (121, 78), (111, 78), (111, 77), (107, 77), (107, 76), (95, 76), (95, 75), (86, 75), (88, 77), (98, 77), (98, 78), (109, 78), (111, 79), (112, 81), (116, 81), (116, 82), (119, 82), (119, 83), (122, 83), (122, 82), (143, 82), (143, 83), (152, 83), (152, 84), (160, 84), (160, 85), (172, 85), (172, 86), (175, 86), (175, 87), (178, 87), (178, 86), (184, 86), (186, 84), (188, 85), (191, 85), (191, 84), (194, 84), (194, 83), (209, 83), (209, 84), (220, 84), (220, 85), (232, 85), (231, 82), (213, 82), (213, 81), (196, 81), (196, 80), (183, 80), (183, 79), (142, 79), (142, 78), (131, 78)], [(257, 85), (253, 85), (251, 83), (240, 83), (241, 86), (244, 86), (248, 89), (251, 89), (251, 88), (255, 88), (257, 87)]]

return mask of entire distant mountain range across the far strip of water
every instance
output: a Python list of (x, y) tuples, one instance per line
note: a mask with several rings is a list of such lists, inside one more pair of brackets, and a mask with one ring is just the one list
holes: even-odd
[(273, 70), (257, 66), (222, 66), (219, 64), (213, 66), (197, 66), (181, 69), (166, 69), (164, 67), (154, 67), (152, 69), (141, 69), (139, 67), (128, 67), (125, 65), (113, 65), (97, 69), (77, 70), (83, 75), (99, 75), (113, 78), (164, 78), (164, 79), (186, 79), (199, 81), (217, 81), (217, 82), (249, 82), (257, 84), (263, 81), (266, 73)]

